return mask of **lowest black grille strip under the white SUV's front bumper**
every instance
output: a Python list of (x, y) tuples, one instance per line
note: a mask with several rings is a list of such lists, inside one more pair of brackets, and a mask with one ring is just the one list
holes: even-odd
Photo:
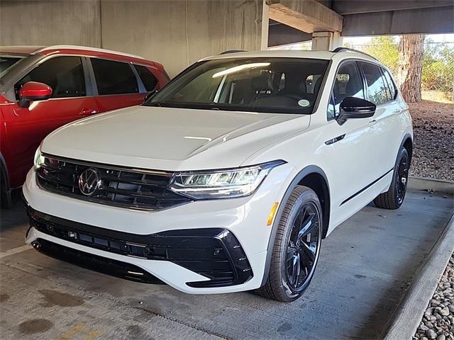
[(84, 251), (50, 242), (47, 239), (37, 239), (34, 242), (34, 246), (41, 253), (51, 256), (54, 259), (72, 263), (83, 268), (91, 269), (92, 271), (116, 276), (117, 278), (125, 278), (126, 280), (164, 284), (159, 278), (130, 263), (85, 253)]

